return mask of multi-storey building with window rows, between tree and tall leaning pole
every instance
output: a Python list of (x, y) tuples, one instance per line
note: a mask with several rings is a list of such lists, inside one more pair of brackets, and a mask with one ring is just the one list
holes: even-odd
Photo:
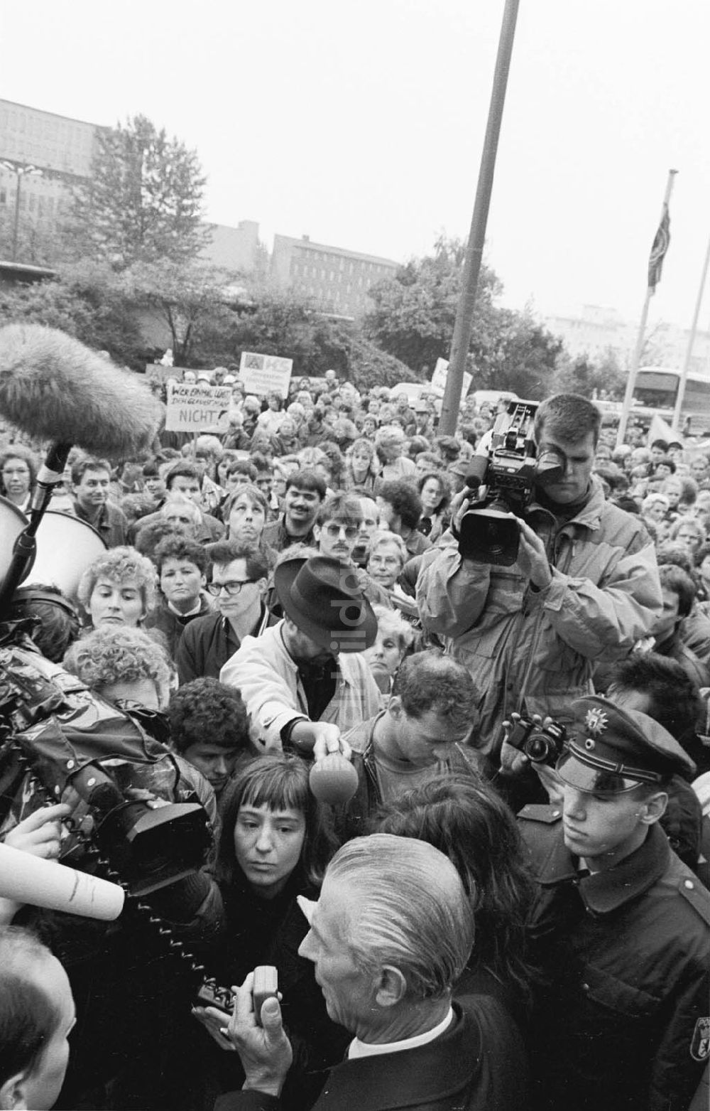
[(273, 281), (282, 289), (310, 298), (322, 312), (334, 316), (363, 316), (372, 307), (369, 289), (394, 277), (397, 269), (398, 263), (392, 259), (312, 243), (308, 236), (301, 239), (274, 236)]

